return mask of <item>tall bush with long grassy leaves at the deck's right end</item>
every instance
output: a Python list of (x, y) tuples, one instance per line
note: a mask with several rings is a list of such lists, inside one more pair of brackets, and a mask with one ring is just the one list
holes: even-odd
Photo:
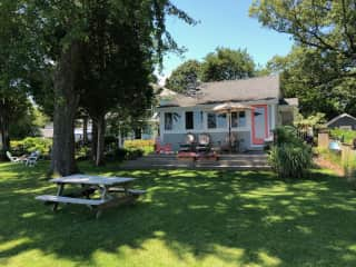
[(297, 137), (293, 127), (276, 129), (277, 140), (271, 147), (268, 161), (279, 177), (305, 177), (313, 165), (312, 147)]

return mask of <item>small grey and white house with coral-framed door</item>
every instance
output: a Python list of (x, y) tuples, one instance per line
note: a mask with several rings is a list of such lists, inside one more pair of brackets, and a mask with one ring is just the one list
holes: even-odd
[[(238, 102), (249, 109), (231, 115), (214, 111), (226, 102)], [(205, 132), (218, 146), (226, 141), (230, 126), (240, 150), (261, 150), (276, 126), (293, 123), (297, 106), (297, 99), (283, 98), (278, 76), (206, 82), (195, 96), (174, 93), (161, 98), (160, 141), (178, 150), (188, 132)]]

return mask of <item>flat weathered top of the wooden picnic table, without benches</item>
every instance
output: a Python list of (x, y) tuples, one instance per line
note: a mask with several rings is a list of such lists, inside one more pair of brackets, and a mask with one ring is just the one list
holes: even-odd
[(83, 184), (83, 185), (105, 185), (112, 186), (125, 184), (135, 180), (128, 177), (105, 177), (105, 176), (90, 176), (90, 175), (71, 175), (51, 179), (56, 184)]

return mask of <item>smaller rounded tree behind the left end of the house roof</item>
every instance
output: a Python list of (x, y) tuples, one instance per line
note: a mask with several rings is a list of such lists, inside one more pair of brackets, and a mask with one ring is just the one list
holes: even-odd
[(178, 66), (166, 80), (166, 87), (179, 93), (189, 93), (199, 85), (201, 65), (197, 60), (188, 60)]

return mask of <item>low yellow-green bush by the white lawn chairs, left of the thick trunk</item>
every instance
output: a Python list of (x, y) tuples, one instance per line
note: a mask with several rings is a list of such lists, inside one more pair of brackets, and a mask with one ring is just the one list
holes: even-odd
[(27, 137), (22, 140), (11, 141), (10, 146), (14, 155), (40, 151), (42, 156), (49, 156), (52, 146), (52, 139), (41, 137)]

